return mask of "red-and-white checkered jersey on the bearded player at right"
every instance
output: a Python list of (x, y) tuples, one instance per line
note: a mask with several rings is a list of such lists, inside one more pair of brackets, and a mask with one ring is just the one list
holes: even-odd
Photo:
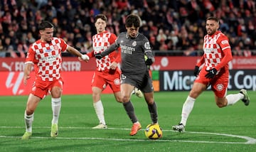
[(203, 42), (206, 70), (216, 67), (223, 59), (223, 52), (230, 49), (228, 38), (221, 31), (215, 32), (212, 36), (206, 35)]

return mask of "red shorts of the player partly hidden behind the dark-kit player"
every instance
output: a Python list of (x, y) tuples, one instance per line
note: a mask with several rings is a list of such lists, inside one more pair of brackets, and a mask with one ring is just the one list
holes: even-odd
[(109, 70), (105, 71), (95, 71), (92, 77), (92, 87), (99, 87), (100, 89), (105, 89), (107, 85), (113, 92), (120, 91), (120, 70), (115, 70), (113, 73)]

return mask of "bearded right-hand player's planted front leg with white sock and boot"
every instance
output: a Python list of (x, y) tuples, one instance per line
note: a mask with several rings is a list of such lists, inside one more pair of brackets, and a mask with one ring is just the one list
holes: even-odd
[(199, 82), (194, 82), (191, 92), (189, 93), (186, 101), (183, 104), (182, 112), (181, 112), (181, 121), (178, 125), (172, 126), (172, 129), (175, 131), (183, 132), (185, 131), (186, 121), (188, 119), (189, 114), (192, 112), (193, 105), (196, 101), (196, 98), (206, 90), (206, 85)]

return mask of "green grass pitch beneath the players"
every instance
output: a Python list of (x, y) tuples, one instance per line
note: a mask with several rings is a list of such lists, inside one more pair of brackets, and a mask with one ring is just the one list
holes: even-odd
[(171, 131), (171, 126), (180, 121), (188, 92), (156, 92), (154, 98), (163, 129), (163, 137), (156, 141), (144, 135), (151, 120), (143, 98), (132, 96), (143, 130), (129, 136), (132, 123), (113, 94), (102, 95), (109, 128), (104, 130), (91, 129), (98, 124), (91, 94), (63, 95), (59, 135), (51, 139), (48, 96), (36, 109), (32, 138), (22, 141), (27, 96), (0, 97), (0, 147), (1, 151), (256, 151), (256, 95), (252, 91), (248, 94), (248, 107), (240, 101), (220, 109), (215, 105), (213, 92), (203, 92), (188, 118), (186, 132), (178, 133)]

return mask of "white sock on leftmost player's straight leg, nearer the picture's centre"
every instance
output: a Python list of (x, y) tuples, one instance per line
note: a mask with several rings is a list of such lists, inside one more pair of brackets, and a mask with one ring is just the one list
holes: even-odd
[(53, 119), (52, 124), (58, 124), (58, 119), (60, 116), (60, 107), (61, 107), (61, 99), (59, 98), (52, 98), (52, 110), (53, 110)]

